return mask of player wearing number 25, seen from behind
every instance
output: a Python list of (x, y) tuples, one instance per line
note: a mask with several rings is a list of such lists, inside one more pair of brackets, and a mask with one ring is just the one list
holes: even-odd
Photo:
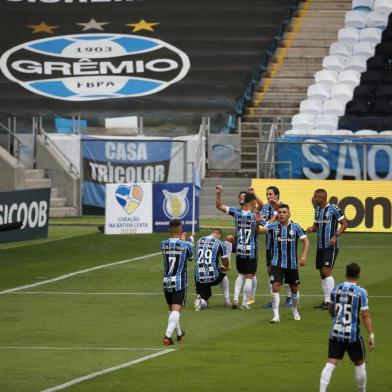
[(360, 272), (358, 264), (348, 264), (346, 282), (337, 285), (331, 292), (328, 310), (333, 321), (329, 337), (328, 360), (320, 377), (320, 392), (326, 392), (332, 373), (346, 351), (355, 365), (354, 377), (358, 391), (366, 391), (365, 346), (359, 330), (360, 317), (369, 334), (370, 351), (374, 350), (375, 340), (367, 292), (358, 286)]

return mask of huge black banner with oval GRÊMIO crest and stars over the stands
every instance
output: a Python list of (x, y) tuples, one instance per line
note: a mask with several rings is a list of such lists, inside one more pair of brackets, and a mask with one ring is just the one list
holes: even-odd
[(289, 5), (0, 0), (1, 111), (159, 121), (233, 110)]

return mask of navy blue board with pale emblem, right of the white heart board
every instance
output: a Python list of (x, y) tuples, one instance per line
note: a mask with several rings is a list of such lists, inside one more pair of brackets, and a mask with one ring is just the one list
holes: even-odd
[[(153, 227), (154, 231), (168, 231), (172, 219), (182, 221), (185, 231), (199, 231), (199, 195), (193, 195), (193, 184), (153, 185)], [(193, 201), (195, 204), (193, 205)]]

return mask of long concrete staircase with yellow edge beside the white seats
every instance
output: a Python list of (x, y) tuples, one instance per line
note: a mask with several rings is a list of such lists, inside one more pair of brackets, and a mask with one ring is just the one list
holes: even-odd
[(250, 106), (242, 117), (241, 167), (255, 173), (257, 146), (255, 140), (266, 133), (274, 118), (282, 117), (285, 129), (306, 99), (314, 82), (313, 75), (322, 69), (329, 46), (337, 40), (344, 25), (351, 0), (312, 0), (300, 5), (298, 16), (290, 23), (275, 56), (268, 66)]

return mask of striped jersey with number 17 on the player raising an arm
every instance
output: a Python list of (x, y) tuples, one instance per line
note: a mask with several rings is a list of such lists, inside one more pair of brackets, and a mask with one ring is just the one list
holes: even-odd
[(227, 214), (234, 216), (237, 257), (257, 258), (256, 214), (236, 207), (227, 207)]

